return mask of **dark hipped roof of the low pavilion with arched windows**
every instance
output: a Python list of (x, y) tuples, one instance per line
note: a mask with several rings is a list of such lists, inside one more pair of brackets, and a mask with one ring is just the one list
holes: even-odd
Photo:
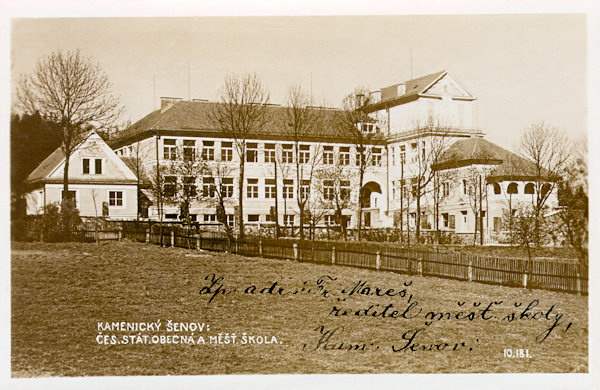
[(444, 170), (475, 164), (495, 166), (488, 175), (490, 182), (537, 177), (533, 162), (479, 137), (452, 144), (433, 168)]

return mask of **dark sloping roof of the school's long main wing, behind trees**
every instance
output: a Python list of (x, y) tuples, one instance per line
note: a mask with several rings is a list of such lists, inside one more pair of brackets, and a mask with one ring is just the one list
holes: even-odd
[[(135, 122), (129, 128), (121, 132), (111, 142), (111, 147), (119, 148), (128, 143), (148, 138), (155, 133), (160, 135), (177, 135), (209, 138), (227, 138), (227, 134), (216, 128), (210, 120), (210, 110), (214, 105), (221, 104), (208, 101), (185, 101), (175, 102), (171, 107), (156, 110)], [(285, 126), (286, 110), (288, 107), (268, 105), (267, 121), (260, 131), (253, 134), (255, 139), (289, 139), (289, 135), (283, 130)], [(313, 108), (322, 116), (324, 126), (315, 128), (307, 134), (306, 141), (328, 141), (343, 142), (331, 121), (335, 113), (340, 110), (329, 108)], [(329, 123), (329, 124), (328, 124)]]

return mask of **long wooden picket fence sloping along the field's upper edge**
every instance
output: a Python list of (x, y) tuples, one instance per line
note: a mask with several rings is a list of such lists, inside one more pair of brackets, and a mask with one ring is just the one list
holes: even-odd
[[(141, 242), (160, 243), (159, 234), (149, 231), (122, 231), (122, 237)], [(319, 264), (392, 271), (409, 275), (434, 276), (512, 287), (531, 287), (552, 291), (588, 294), (588, 268), (576, 261), (476, 256), (463, 253), (438, 253), (404, 248), (379, 251), (332, 246), (329, 242), (286, 239), (227, 239), (222, 233), (204, 232), (189, 236), (174, 231), (163, 233), (162, 244), (195, 250), (237, 253), (244, 256), (289, 259)], [(344, 244), (338, 243), (338, 246)], [(531, 269), (529, 270), (529, 265)]]

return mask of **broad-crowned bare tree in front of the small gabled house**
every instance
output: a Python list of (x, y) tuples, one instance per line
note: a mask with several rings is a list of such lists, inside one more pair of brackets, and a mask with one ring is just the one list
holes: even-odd
[(69, 196), (69, 159), (90, 128), (109, 130), (120, 115), (108, 76), (99, 64), (75, 52), (55, 52), (38, 61), (21, 79), (17, 96), (27, 113), (38, 112), (50, 126), (65, 156), (63, 201)]

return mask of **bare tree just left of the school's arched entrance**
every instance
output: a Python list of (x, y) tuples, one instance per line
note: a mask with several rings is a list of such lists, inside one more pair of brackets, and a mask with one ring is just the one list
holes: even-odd
[(381, 129), (385, 127), (383, 119), (369, 115), (365, 107), (372, 103), (367, 88), (358, 87), (342, 101), (342, 110), (338, 112), (335, 127), (338, 135), (348, 140), (356, 151), (356, 169), (358, 170), (358, 239), (362, 233), (362, 209), (364, 204), (363, 182), (366, 171), (372, 165), (374, 146), (384, 145)]

